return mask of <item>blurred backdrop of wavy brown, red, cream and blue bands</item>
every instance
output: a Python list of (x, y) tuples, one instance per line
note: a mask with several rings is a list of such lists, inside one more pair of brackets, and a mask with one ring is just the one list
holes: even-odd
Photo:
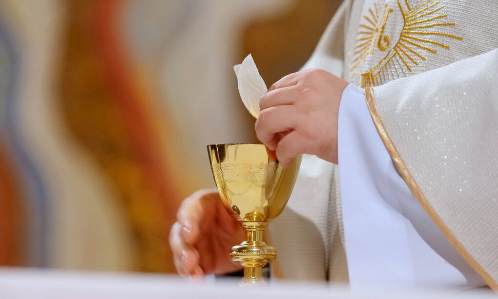
[(168, 233), (254, 142), (233, 65), (269, 86), (340, 0), (1, 0), (0, 265), (174, 272)]

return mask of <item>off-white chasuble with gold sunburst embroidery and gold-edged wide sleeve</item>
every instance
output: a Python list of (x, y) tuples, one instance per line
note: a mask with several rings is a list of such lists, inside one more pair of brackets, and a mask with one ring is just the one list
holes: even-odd
[[(303, 67), (324, 69), (364, 89), (375, 128), (365, 138), (382, 142), (392, 170), (410, 191), (405, 194), (425, 212), (421, 217), (428, 216), (493, 289), (498, 289), (497, 15), (497, 1), (346, 0)], [(341, 106), (344, 100), (345, 94)], [(343, 221), (348, 202), (341, 200), (340, 182), (348, 168), (341, 159), (345, 151), (340, 138), (339, 166), (303, 157), (287, 208), (269, 227), (279, 252), (274, 276), (349, 281), (345, 247), (351, 227), (343, 226), (349, 224)]]

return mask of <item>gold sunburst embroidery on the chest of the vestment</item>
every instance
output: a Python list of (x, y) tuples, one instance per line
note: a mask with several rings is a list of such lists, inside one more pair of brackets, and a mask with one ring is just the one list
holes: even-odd
[[(361, 86), (376, 86), (385, 83), (385, 78), (389, 78), (387, 74), (381, 73), (388, 67), (388, 69), (395, 69), (395, 66), (401, 68), (401, 76), (403, 73), (413, 71), (413, 66), (418, 66), (421, 61), (426, 58), (423, 51), (433, 54), (437, 53), (437, 47), (449, 49), (450, 46), (433, 40), (432, 36), (444, 36), (462, 40), (462, 37), (436, 31), (436, 28), (444, 28), (448, 26), (455, 26), (453, 22), (444, 22), (441, 19), (447, 17), (447, 14), (437, 14), (439, 10), (443, 9), (443, 5), (439, 5), (436, 0), (424, 0), (415, 7), (410, 7), (410, 0), (404, 0), (403, 6), (400, 0), (397, 1), (397, 7), (403, 18), (403, 27), (399, 32), (399, 39), (396, 44), (388, 50), (391, 45), (391, 36), (384, 35), (384, 29), (387, 25), (389, 14), (394, 12), (393, 8), (389, 8), (389, 4), (383, 6), (382, 17), (379, 17), (378, 2), (373, 3), (373, 8), (368, 10), (368, 14), (363, 18), (367, 21), (360, 24), (358, 31), (359, 38), (354, 52), (354, 58), (351, 65), (351, 77), (356, 76), (358, 71), (363, 66), (365, 60), (369, 55), (373, 55), (375, 45), (380, 51), (386, 51), (386, 55), (375, 65), (370, 71), (363, 73), (360, 77)], [(428, 29), (429, 28), (429, 29)], [(433, 45), (431, 47), (430, 45)], [(391, 76), (392, 77), (392, 76)]]

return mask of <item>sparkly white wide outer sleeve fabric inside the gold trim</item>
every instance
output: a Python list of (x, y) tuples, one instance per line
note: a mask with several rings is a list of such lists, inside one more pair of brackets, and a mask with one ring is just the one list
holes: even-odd
[(434, 215), (495, 281), (497, 95), (497, 49), (374, 88), (389, 137)]

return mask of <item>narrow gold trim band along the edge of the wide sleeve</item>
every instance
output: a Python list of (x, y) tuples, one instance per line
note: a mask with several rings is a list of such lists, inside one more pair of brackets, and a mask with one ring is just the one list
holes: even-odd
[(474, 259), (474, 257), (465, 249), (465, 247), (458, 241), (458, 239), (453, 235), (450, 229), (444, 224), (441, 217), (436, 213), (434, 208), (431, 206), (429, 201), (425, 198), (424, 194), (418, 187), (417, 183), (411, 176), (410, 172), (406, 168), (401, 156), (398, 151), (394, 147), (389, 134), (385, 130), (384, 124), (382, 123), (382, 119), (377, 110), (377, 105), (375, 104), (375, 99), (373, 97), (373, 88), (367, 87), (365, 88), (365, 98), (367, 99), (367, 105), (370, 110), (370, 115), (372, 116), (373, 123), (377, 129), (377, 132), (384, 143), (387, 152), (391, 156), (392, 161), (396, 165), (401, 177), (410, 188), (413, 195), (420, 201), (420, 204), (424, 207), (425, 211), (429, 214), (432, 220), (439, 227), (441, 232), (445, 235), (445, 237), (450, 241), (451, 245), (455, 247), (455, 249), (462, 255), (462, 257), (469, 263), (469, 265), (481, 276), (481, 278), (495, 291), (498, 293), (498, 284), (497, 282), (484, 270), (484, 268), (479, 265), (479, 263)]

